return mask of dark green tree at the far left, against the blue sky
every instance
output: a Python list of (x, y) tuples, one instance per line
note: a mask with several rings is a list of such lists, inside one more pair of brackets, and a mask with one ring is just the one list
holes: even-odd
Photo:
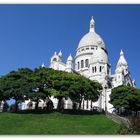
[(31, 92), (30, 75), (32, 70), (21, 68), (17, 71), (11, 71), (0, 78), (0, 93), (3, 100), (15, 99), (15, 111), (18, 109), (18, 103), (24, 98), (24, 95)]

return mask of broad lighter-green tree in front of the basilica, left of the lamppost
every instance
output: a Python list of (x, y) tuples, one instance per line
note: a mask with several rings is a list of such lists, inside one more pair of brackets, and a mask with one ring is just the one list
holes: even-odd
[(40, 92), (46, 92), (47, 97), (54, 96), (58, 99), (58, 110), (64, 109), (64, 99), (67, 98), (70, 98), (74, 103), (80, 104), (83, 99), (95, 102), (99, 98), (102, 87), (98, 82), (77, 74), (49, 68), (40, 68), (36, 72), (36, 81), (38, 81), (36, 82), (38, 83), (36, 87), (42, 89)]

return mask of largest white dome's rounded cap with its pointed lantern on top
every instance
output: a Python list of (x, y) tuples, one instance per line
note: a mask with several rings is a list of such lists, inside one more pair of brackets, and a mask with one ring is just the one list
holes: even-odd
[(93, 17), (90, 21), (90, 30), (85, 34), (79, 42), (78, 49), (85, 46), (99, 46), (105, 48), (102, 38), (95, 32), (95, 22)]

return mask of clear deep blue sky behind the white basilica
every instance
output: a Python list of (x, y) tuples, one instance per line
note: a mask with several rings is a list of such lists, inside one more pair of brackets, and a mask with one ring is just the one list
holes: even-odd
[(140, 87), (140, 5), (0, 5), (0, 75), (21, 67), (49, 65), (54, 51), (65, 62), (94, 17), (114, 73), (123, 49)]

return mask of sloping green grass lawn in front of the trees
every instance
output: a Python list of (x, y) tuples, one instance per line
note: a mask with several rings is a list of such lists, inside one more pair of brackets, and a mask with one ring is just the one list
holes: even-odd
[(119, 124), (105, 115), (0, 113), (1, 135), (117, 134), (118, 129)]

